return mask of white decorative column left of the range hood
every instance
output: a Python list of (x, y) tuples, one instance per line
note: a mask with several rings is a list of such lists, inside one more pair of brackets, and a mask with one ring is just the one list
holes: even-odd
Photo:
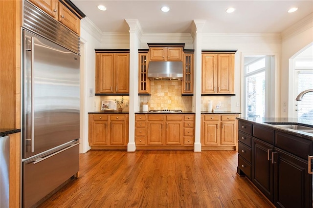
[(129, 135), (127, 151), (134, 152), (135, 145), (135, 112), (139, 111), (138, 102), (138, 48), (142, 36), (141, 26), (138, 20), (125, 20), (129, 25)]

